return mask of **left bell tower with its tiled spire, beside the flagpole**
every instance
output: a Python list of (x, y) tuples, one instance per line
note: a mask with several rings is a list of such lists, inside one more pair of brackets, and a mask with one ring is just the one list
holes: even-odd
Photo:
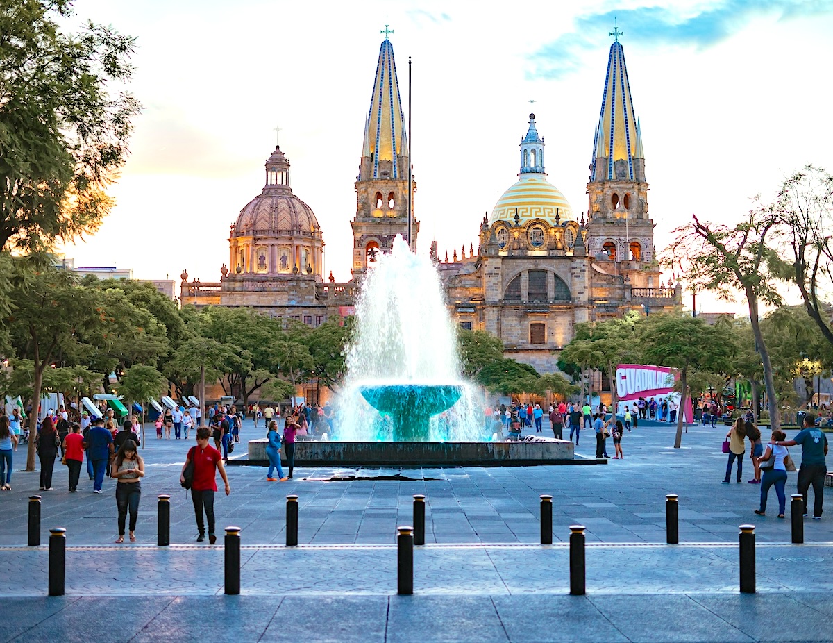
[[(365, 122), (362, 160), (356, 177), (356, 217), (353, 230), (352, 272), (358, 276), (372, 267), (377, 253), (391, 252), (393, 240), (401, 234), (416, 247), (419, 223), (412, 220), (408, 239), (408, 170), (411, 157), (402, 99), (399, 95), (397, 65), (393, 45), (388, 40), (392, 31), (382, 31), (385, 39), (379, 48), (376, 78)], [(416, 182), (411, 181), (411, 207)]]

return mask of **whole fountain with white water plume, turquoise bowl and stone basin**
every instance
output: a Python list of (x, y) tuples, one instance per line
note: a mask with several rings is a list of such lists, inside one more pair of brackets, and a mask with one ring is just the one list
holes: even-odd
[[(362, 281), (347, 377), (327, 441), (302, 441), (308, 465), (496, 465), (573, 461), (570, 441), (504, 441), (483, 419), (483, 392), (461, 376), (439, 273), (402, 237)], [(262, 441), (249, 443), (262, 460)], [(253, 451), (253, 448), (255, 451)]]

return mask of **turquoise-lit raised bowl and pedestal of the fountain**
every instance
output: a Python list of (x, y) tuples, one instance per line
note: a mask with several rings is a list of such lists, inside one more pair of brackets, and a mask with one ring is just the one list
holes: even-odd
[(428, 439), (431, 417), (454, 406), (463, 387), (402, 382), (360, 386), (358, 391), (370, 406), (391, 416), (393, 441), (421, 442)]

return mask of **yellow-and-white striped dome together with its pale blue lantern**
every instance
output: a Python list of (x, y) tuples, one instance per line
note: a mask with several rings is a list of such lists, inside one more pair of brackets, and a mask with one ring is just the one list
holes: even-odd
[(529, 129), (521, 139), (520, 180), (510, 187), (491, 211), (489, 224), (496, 221), (515, 221), (517, 212), (520, 223), (532, 219), (555, 222), (574, 219), (572, 208), (563, 194), (546, 180), (544, 172), (544, 139), (535, 127), (535, 114), (529, 115)]

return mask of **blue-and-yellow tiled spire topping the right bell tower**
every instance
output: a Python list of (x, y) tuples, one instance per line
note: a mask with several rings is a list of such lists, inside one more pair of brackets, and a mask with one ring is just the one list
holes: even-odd
[(607, 59), (605, 90), (593, 140), (591, 181), (645, 181), (645, 154), (639, 121), (633, 110), (631, 86), (627, 77), (625, 50), (619, 42), (618, 28), (611, 32), (616, 40)]

